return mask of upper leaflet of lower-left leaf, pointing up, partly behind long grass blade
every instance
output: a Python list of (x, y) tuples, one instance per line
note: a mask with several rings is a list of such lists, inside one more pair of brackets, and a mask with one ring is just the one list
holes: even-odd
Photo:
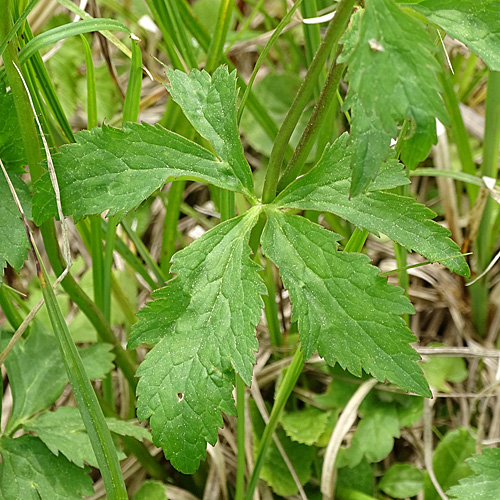
[[(12, 334), (2, 331), (5, 348)], [(113, 369), (114, 355), (109, 344), (80, 349), (91, 378), (102, 378)], [(96, 366), (99, 363), (100, 366)], [(21, 338), (5, 361), (12, 390), (12, 412), (7, 431), (16, 429), (29, 417), (53, 404), (68, 383), (56, 338), (34, 323), (28, 338)]]

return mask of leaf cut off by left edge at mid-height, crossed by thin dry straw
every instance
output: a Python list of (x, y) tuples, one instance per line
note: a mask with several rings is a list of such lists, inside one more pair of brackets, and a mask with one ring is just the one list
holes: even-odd
[[(1, 115), (0, 115), (1, 116)], [(0, 137), (2, 132), (0, 130)], [(31, 217), (31, 196), (26, 184), (10, 176), (17, 196), (23, 206), (26, 217)], [(3, 172), (0, 172), (0, 277), (10, 264), (14, 269), (21, 269), (28, 256), (28, 237), (19, 210), (16, 207)]]

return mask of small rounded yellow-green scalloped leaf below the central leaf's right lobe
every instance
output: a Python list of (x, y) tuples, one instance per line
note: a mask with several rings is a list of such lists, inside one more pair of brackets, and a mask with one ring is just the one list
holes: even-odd
[(294, 411), (281, 417), (281, 426), (290, 439), (311, 446), (325, 432), (330, 414), (318, 408)]

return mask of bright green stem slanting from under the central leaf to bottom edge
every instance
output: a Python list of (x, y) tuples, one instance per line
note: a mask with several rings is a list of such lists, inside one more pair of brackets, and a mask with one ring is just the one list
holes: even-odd
[(271, 415), (269, 416), (269, 422), (264, 429), (264, 433), (262, 434), (259, 450), (257, 452), (257, 458), (255, 460), (252, 475), (247, 486), (247, 492), (245, 496), (246, 500), (253, 499), (255, 488), (259, 480), (260, 471), (262, 469), (262, 466), (264, 465), (264, 458), (266, 456), (267, 449), (271, 444), (274, 431), (276, 430), (285, 404), (288, 401), (288, 398), (290, 397), (290, 394), (292, 393), (300, 374), (302, 373), (303, 366), (304, 356), (302, 355), (302, 351), (300, 349), (297, 349), (293, 356), (292, 363), (288, 367), (285, 377), (283, 378), (283, 382), (278, 389), (273, 409), (271, 410)]

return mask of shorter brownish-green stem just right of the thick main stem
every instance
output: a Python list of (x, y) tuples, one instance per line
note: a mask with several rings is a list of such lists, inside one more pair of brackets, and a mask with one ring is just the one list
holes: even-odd
[(329, 114), (334, 100), (337, 98), (337, 90), (344, 70), (344, 64), (337, 65), (335, 64), (335, 61), (332, 63), (325, 85), (321, 90), (311, 118), (302, 133), (292, 159), (288, 163), (283, 176), (278, 182), (278, 191), (285, 189), (285, 187), (293, 182), (302, 172), (302, 169), (307, 161), (307, 157), (314, 146), (314, 142), (319, 135), (321, 128), (325, 123), (327, 123), (325, 119)]

